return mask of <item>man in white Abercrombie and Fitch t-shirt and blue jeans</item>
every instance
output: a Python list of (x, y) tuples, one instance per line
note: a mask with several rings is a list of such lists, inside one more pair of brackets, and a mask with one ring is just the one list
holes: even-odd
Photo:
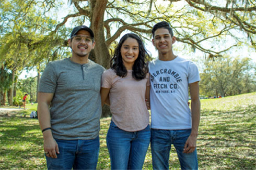
[(169, 168), (173, 145), (181, 169), (198, 169), (199, 71), (193, 62), (173, 54), (172, 44), (176, 37), (168, 22), (155, 24), (152, 33), (153, 44), (158, 50), (158, 59), (149, 63), (153, 168)]

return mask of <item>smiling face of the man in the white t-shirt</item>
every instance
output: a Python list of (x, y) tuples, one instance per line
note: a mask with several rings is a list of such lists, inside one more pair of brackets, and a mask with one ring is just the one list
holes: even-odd
[(172, 54), (172, 44), (176, 41), (176, 37), (172, 36), (165, 28), (159, 28), (155, 31), (153, 45), (157, 48), (161, 55)]

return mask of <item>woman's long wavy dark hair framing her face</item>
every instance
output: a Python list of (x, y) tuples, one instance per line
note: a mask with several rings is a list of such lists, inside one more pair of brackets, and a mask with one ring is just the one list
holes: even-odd
[(145, 79), (146, 74), (148, 72), (148, 66), (147, 66), (148, 59), (147, 58), (149, 58), (149, 54), (147, 53), (147, 50), (146, 50), (141, 38), (139, 38), (139, 36), (136, 34), (133, 34), (133, 33), (125, 34), (121, 38), (121, 40), (118, 43), (118, 46), (114, 50), (113, 57), (110, 60), (110, 67), (120, 77), (125, 77), (127, 75), (127, 70), (124, 67), (123, 59), (122, 59), (122, 55), (121, 55), (121, 47), (123, 45), (123, 42), (125, 40), (127, 40), (127, 38), (129, 38), (129, 37), (137, 40), (138, 49), (139, 49), (138, 58), (135, 60), (135, 62), (133, 64), (132, 76), (136, 80)]

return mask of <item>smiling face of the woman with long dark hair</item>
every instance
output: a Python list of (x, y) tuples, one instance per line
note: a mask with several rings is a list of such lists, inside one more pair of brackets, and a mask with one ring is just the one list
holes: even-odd
[(121, 56), (124, 67), (132, 70), (135, 60), (138, 58), (139, 46), (137, 40), (128, 37), (121, 46)]

